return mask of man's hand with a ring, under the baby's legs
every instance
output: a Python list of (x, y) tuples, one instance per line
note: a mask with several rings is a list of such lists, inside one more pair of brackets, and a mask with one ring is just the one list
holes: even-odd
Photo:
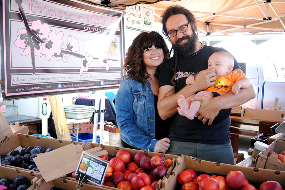
[(211, 125), (220, 111), (220, 108), (213, 101), (213, 98), (207, 96), (195, 96), (191, 100), (201, 101), (201, 106), (196, 116), (199, 120), (203, 121), (203, 124), (206, 124), (207, 120), (209, 120), (208, 125)]

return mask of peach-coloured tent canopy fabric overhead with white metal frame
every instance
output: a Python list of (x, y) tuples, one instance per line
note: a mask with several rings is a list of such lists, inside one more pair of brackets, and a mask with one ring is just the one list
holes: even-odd
[(198, 32), (285, 32), (285, 0), (84, 0), (125, 9), (139, 3), (155, 7), (156, 22), (170, 5), (182, 5), (197, 19)]

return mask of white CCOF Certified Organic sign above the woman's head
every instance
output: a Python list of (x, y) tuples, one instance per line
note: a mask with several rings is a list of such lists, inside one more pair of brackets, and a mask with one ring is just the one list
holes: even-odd
[(155, 7), (138, 4), (126, 7), (125, 26), (139, 32), (152, 31)]

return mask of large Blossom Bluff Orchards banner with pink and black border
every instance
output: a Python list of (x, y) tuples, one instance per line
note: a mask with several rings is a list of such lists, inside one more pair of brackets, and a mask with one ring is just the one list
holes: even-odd
[(1, 4), (4, 100), (118, 88), (123, 10), (77, 0)]

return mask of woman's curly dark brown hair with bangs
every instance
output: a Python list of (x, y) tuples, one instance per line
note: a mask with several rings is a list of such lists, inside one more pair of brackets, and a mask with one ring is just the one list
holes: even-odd
[[(151, 48), (153, 44), (156, 48), (162, 48), (164, 55), (163, 62), (169, 58), (167, 45), (163, 37), (158, 32), (141, 32), (133, 40), (132, 45), (127, 51), (125, 64), (123, 66), (127, 74), (124, 78), (129, 76), (131, 79), (139, 81), (144, 85), (146, 84), (146, 79), (150, 78), (150, 74), (147, 73), (146, 66), (143, 62), (143, 50)], [(161, 66), (162, 64), (156, 68), (156, 72), (154, 74), (156, 78), (159, 76)]]

